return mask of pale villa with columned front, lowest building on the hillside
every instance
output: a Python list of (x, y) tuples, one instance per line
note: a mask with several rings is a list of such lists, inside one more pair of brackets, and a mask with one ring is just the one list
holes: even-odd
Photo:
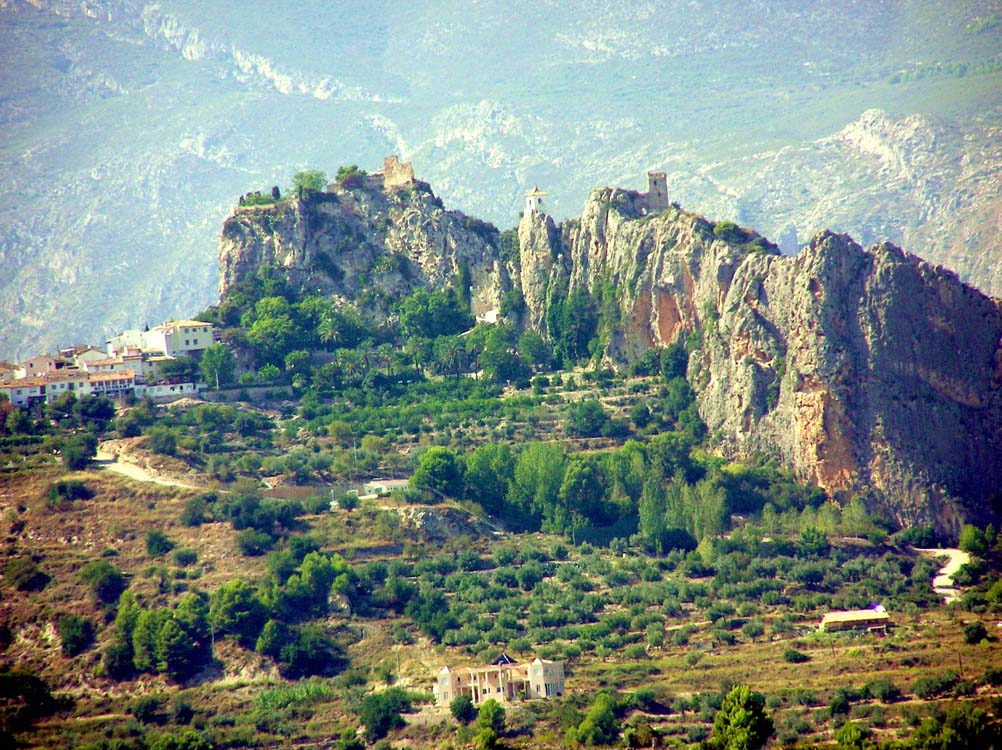
[(540, 659), (516, 663), (502, 655), (487, 667), (443, 667), (435, 681), (435, 700), (448, 706), (459, 696), (469, 696), (477, 706), (493, 698), (510, 703), (564, 694), (563, 662)]

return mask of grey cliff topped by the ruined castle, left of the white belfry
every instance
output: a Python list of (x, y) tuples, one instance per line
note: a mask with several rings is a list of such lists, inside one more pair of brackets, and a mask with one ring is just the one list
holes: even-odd
[(358, 186), (300, 200), (237, 208), (223, 223), (219, 296), (262, 265), (294, 288), (364, 301), (389, 312), (418, 286), (469, 282), (475, 314), (496, 309), (511, 288), (491, 224), (447, 211), (426, 183), (389, 190)]

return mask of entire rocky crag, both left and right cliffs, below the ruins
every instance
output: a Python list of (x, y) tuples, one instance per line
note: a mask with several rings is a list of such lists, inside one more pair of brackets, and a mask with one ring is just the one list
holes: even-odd
[[(823, 231), (786, 256), (755, 231), (647, 193), (594, 190), (579, 219), (528, 211), (517, 249), (423, 183), (337, 187), (238, 208), (223, 225), (225, 297), (261, 263), (305, 289), (389, 308), (469, 279), (474, 311), (548, 335), (554, 300), (599, 304), (605, 357), (684, 341), (712, 442), (900, 523), (956, 532), (1002, 492), (1002, 303), (882, 242)], [(466, 270), (464, 270), (466, 269)]]

